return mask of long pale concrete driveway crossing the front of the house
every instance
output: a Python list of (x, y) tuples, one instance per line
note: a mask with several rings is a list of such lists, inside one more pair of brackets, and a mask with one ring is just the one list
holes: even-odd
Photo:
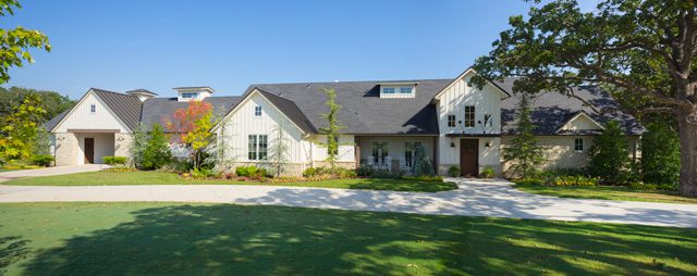
[(697, 204), (563, 199), (523, 192), (505, 180), (449, 180), (460, 189), (429, 193), (236, 185), (0, 186), (0, 202), (211, 202), (697, 228)]

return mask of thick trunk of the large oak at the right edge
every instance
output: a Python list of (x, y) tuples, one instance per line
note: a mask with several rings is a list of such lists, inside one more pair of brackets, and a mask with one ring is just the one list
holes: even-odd
[[(692, 120), (688, 120), (689, 116)], [(680, 124), (680, 195), (697, 197), (697, 111), (681, 113)]]

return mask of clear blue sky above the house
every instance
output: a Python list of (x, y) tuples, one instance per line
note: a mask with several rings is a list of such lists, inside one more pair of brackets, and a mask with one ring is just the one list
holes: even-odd
[(22, 1), (1, 27), (49, 36), (9, 86), (240, 95), (255, 83), (452, 78), (487, 53), (522, 0)]

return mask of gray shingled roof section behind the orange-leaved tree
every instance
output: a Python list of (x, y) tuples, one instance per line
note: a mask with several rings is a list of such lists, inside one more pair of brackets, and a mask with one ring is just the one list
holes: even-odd
[[(222, 116), (242, 100), (240, 96), (230, 97), (208, 97), (204, 101), (213, 105), (213, 115)], [(143, 102), (143, 115), (140, 122), (146, 129), (150, 129), (152, 124), (162, 124), (172, 120), (172, 114), (176, 109), (186, 108), (188, 102), (179, 102), (176, 98), (149, 98)]]

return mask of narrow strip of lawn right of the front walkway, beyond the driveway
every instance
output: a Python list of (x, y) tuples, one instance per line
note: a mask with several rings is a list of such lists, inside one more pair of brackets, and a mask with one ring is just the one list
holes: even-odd
[(537, 186), (537, 185), (515, 185), (519, 190), (560, 198), (574, 199), (604, 199), (604, 200), (626, 200), (626, 201), (648, 201), (665, 203), (688, 203), (697, 204), (697, 198), (685, 198), (677, 196), (677, 191), (643, 191), (632, 190), (626, 187), (600, 186), (600, 187), (576, 187), (576, 186)]

